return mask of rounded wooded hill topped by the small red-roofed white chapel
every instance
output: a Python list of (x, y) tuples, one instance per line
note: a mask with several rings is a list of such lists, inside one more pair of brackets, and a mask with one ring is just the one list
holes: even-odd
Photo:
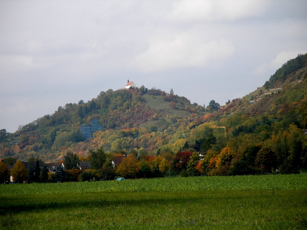
[[(78, 104), (60, 106), (54, 114), (38, 118), (14, 134), (2, 129), (0, 157), (56, 161), (67, 151), (87, 155), (88, 149), (102, 144), (97, 143), (97, 139), (101, 140), (110, 132), (114, 133), (111, 140), (103, 142), (107, 151), (131, 151), (141, 147), (154, 151), (156, 147), (147, 146), (148, 143), (142, 140), (145, 137), (140, 136), (152, 132), (171, 136), (182, 125), (199, 122), (204, 114), (205, 108), (191, 104), (173, 90), (166, 93), (155, 88), (148, 90), (144, 86), (128, 90), (110, 89), (86, 103), (80, 100)], [(94, 130), (97, 132), (93, 132), (93, 121), (97, 123), (98, 129)], [(85, 135), (82, 134), (84, 129)]]

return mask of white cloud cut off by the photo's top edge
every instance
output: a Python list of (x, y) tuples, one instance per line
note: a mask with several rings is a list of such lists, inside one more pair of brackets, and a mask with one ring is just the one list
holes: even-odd
[(235, 20), (260, 15), (265, 4), (256, 0), (182, 0), (174, 3), (169, 16), (183, 21)]

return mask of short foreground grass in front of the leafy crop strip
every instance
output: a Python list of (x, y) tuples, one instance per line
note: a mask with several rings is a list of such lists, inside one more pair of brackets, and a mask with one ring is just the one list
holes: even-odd
[(1, 229), (307, 228), (302, 190), (39, 194), (1, 201)]

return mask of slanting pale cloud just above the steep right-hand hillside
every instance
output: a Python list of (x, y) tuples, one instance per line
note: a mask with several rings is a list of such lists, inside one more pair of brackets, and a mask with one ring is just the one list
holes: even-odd
[(306, 50), (282, 51), (270, 62), (263, 63), (262, 65), (258, 66), (252, 72), (252, 74), (263, 75), (267, 73), (268, 71), (275, 72), (280, 67), (282, 67), (282, 64), (286, 63), (288, 60), (296, 58), (298, 54), (305, 54), (305, 53), (306, 53)]

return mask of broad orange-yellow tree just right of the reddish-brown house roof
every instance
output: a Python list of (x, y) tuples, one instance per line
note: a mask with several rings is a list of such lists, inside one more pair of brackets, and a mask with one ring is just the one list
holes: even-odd
[(122, 163), (118, 166), (116, 173), (122, 177), (135, 177), (136, 174), (140, 171), (140, 162), (130, 154), (125, 159), (122, 160)]

